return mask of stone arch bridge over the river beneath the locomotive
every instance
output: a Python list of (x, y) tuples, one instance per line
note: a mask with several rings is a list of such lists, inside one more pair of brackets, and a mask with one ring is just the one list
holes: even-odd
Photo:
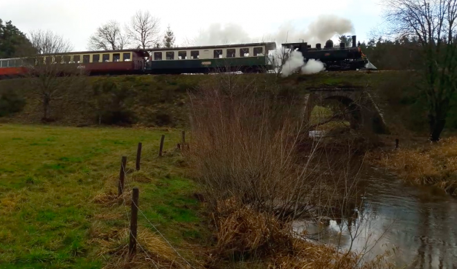
[(350, 126), (356, 130), (387, 134), (384, 116), (366, 87), (316, 87), (307, 88), (305, 117), (309, 121), (315, 105), (337, 101), (345, 109)]

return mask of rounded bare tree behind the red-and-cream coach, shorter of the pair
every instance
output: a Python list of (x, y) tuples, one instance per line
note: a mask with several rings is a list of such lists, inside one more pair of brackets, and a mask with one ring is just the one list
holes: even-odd
[(98, 27), (96, 33), (89, 38), (87, 48), (91, 51), (125, 49), (129, 44), (129, 38), (120, 29), (118, 21), (108, 21)]

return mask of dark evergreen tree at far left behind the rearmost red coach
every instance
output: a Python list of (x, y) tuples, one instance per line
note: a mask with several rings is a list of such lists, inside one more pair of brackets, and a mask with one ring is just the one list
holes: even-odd
[(11, 21), (0, 19), (0, 58), (14, 58), (33, 53), (26, 35), (12, 25)]

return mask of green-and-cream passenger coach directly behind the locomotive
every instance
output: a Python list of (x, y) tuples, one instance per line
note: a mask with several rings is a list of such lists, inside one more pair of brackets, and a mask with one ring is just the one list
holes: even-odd
[(145, 73), (258, 73), (271, 69), (274, 49), (275, 42), (148, 49)]

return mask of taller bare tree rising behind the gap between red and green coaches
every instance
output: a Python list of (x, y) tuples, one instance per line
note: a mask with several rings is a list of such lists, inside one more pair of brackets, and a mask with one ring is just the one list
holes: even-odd
[(141, 49), (154, 47), (160, 42), (160, 19), (153, 17), (149, 11), (138, 10), (125, 27), (125, 32), (134, 46)]

